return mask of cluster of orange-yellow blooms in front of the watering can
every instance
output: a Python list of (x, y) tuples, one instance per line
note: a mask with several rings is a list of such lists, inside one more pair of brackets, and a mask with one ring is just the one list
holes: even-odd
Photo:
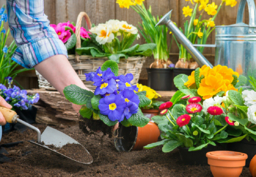
[[(228, 90), (237, 90), (234, 85), (234, 79), (239, 78), (239, 74), (226, 66), (215, 66), (213, 68), (204, 65), (200, 68), (200, 85), (198, 94), (203, 99), (212, 98), (219, 92), (226, 93)], [(188, 81), (184, 84), (188, 88), (193, 88), (196, 84), (195, 71), (188, 77)]]

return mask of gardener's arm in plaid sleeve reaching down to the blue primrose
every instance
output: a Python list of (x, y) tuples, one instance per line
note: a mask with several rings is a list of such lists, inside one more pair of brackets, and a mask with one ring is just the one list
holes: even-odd
[[(14, 61), (25, 68), (36, 68), (61, 94), (71, 84), (86, 88), (67, 60), (64, 43), (49, 26), (43, 0), (8, 0), (7, 11), (10, 32), (17, 45)], [(76, 112), (80, 107), (74, 107)]]

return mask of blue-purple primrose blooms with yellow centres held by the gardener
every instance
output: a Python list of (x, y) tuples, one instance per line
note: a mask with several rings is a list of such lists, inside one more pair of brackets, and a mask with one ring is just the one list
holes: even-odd
[(101, 97), (100, 114), (108, 116), (111, 121), (121, 122), (138, 112), (140, 100), (135, 94), (138, 88), (131, 84), (132, 79), (134, 79), (132, 74), (115, 76), (111, 68), (105, 71), (98, 68), (96, 72), (86, 74), (86, 81), (93, 81), (93, 85), (97, 87), (95, 96)]

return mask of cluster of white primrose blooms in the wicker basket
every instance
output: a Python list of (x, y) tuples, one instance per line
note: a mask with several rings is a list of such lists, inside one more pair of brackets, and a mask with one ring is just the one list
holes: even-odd
[(126, 21), (119, 21), (117, 19), (111, 19), (104, 24), (101, 23), (98, 26), (94, 26), (89, 31), (97, 35), (96, 41), (100, 45), (111, 43), (117, 36), (121, 36), (121, 39), (126, 40), (131, 34), (139, 36), (135, 26), (129, 25)]

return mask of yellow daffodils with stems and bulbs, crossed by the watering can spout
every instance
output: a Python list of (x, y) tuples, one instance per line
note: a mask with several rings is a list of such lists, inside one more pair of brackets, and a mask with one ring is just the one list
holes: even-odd
[[(184, 1), (184, 0), (182, 0)], [(194, 6), (194, 9), (190, 8), (190, 6), (184, 6), (183, 7), (183, 15), (185, 17), (190, 17), (189, 20), (185, 21), (184, 28), (180, 28), (181, 32), (191, 41), (192, 44), (197, 46), (197, 49), (203, 53), (204, 52), (204, 46), (207, 42), (208, 37), (211, 35), (211, 32), (215, 30), (215, 19), (218, 16), (218, 12), (220, 12), (220, 9), (226, 3), (226, 6), (235, 6), (237, 5), (237, 1), (227, 1), (224, 0), (220, 3), (220, 5), (216, 5), (215, 1), (212, 1), (212, 3), (209, 3), (209, 0), (185, 0), (185, 1), (191, 1), (191, 4)], [(200, 16), (196, 16), (198, 14), (198, 11), (200, 12)], [(203, 19), (203, 14), (207, 13), (209, 15), (209, 19)], [(175, 65), (175, 68), (179, 68), (179, 72), (181, 72), (180, 68), (185, 69), (191, 69), (189, 70), (190, 75), (192, 70), (198, 68), (198, 63), (194, 61), (189, 54), (189, 52), (178, 43), (175, 36), (174, 39), (180, 49), (180, 55), (179, 60)], [(187, 70), (185, 70), (186, 72)], [(174, 72), (176, 70), (174, 69)], [(181, 73), (178, 73), (181, 74)], [(174, 77), (178, 76), (178, 74), (174, 73)]]

